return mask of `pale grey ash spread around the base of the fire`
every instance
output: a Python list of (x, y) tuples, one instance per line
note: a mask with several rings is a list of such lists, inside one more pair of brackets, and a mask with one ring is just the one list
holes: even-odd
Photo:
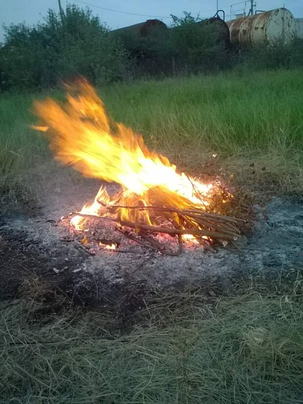
[[(0, 231), (14, 232), (20, 243), (38, 245), (48, 260), (51, 276), (64, 273), (72, 279), (73, 287), (93, 279), (97, 291), (117, 284), (142, 282), (156, 288), (196, 285), (208, 276), (281, 271), (302, 265), (302, 203), (280, 198), (273, 199), (265, 208), (255, 206), (257, 220), (253, 232), (249, 237), (242, 237), (238, 250), (217, 247), (215, 253), (204, 252), (200, 246), (188, 244), (180, 256), (174, 257), (124, 239), (119, 249), (131, 252), (96, 247), (90, 251), (74, 240), (65, 225), (56, 221), (70, 211), (80, 210), (85, 202), (93, 201), (99, 186), (100, 182), (95, 181), (63, 186), (51, 196), (41, 198), (42, 207), (35, 215), (11, 214), (2, 219)], [(110, 185), (108, 188), (110, 192)], [(117, 233), (112, 239), (117, 240)]]

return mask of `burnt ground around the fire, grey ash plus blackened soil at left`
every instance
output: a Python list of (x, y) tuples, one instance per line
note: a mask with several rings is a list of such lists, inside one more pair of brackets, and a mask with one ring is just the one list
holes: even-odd
[(228, 285), (244, 273), (302, 268), (303, 204), (285, 198), (254, 206), (252, 234), (243, 237), (238, 250), (217, 248), (215, 253), (205, 253), (190, 246), (181, 256), (172, 257), (130, 243), (134, 253), (100, 250), (91, 255), (57, 220), (91, 201), (99, 185), (86, 181), (52, 188), (41, 197), (39, 208), (0, 217), (2, 300), (31, 289), (42, 299), (47, 293), (58, 293), (81, 305), (96, 306), (118, 298), (131, 310), (141, 304), (147, 291), (212, 285), (216, 279)]

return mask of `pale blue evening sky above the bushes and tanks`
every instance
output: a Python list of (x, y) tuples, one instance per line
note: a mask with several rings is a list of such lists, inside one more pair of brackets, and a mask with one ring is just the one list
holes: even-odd
[[(231, 4), (238, 3), (241, 0), (217, 0), (218, 8), (223, 9), (226, 14), (225, 20), (230, 20)], [(255, 0), (258, 10), (272, 10), (285, 5), (294, 17), (303, 18), (303, 0)], [(102, 22), (105, 22), (110, 28), (121, 28), (123, 26), (143, 22), (151, 18), (158, 18), (166, 24), (172, 21), (171, 14), (182, 16), (183, 11), (191, 12), (201, 18), (212, 17), (216, 13), (216, 0), (61, 0), (62, 7), (65, 8), (66, 2), (75, 3), (80, 7), (87, 6), (93, 14), (99, 15)], [(98, 6), (98, 7), (96, 7)], [(110, 11), (99, 7), (108, 8)], [(250, 8), (250, 1), (242, 2), (233, 6), (233, 9), (239, 10), (238, 13)], [(43, 21), (47, 9), (52, 8), (59, 11), (58, 0), (0, 0), (0, 42), (3, 41), (2, 25), (11, 23), (25, 22), (28, 25)], [(142, 14), (133, 15), (126, 13)], [(144, 16), (146, 15), (146, 16)]]

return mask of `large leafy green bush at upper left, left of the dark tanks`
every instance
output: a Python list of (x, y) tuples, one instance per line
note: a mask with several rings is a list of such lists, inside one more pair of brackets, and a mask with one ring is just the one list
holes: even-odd
[(97, 84), (127, 76), (127, 54), (98, 17), (75, 5), (67, 5), (63, 17), (48, 10), (43, 23), (5, 28), (2, 88), (41, 88), (78, 74)]

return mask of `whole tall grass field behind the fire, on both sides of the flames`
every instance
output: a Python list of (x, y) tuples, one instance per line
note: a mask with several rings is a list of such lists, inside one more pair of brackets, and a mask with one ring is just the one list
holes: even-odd
[[(302, 191), (301, 70), (148, 80), (99, 93), (114, 119), (144, 134), (152, 148), (182, 168), (200, 174), (217, 153), (216, 170), (224, 167), (240, 183), (251, 177), (253, 162), (257, 182), (265, 166), (278, 191)], [(49, 172), (43, 137), (28, 126), (35, 120), (33, 99), (47, 95), (63, 99), (59, 90), (0, 99), (0, 185), (6, 192), (24, 188), (30, 174)]]

